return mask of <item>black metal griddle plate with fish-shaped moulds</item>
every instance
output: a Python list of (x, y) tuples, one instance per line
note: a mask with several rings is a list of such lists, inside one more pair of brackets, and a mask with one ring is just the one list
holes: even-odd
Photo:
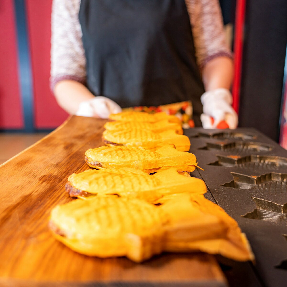
[(196, 174), (208, 186), (206, 197), (238, 222), (255, 254), (255, 265), (233, 262), (231, 269), (224, 259), (230, 286), (286, 287), (287, 151), (250, 128), (184, 134), (204, 169)]

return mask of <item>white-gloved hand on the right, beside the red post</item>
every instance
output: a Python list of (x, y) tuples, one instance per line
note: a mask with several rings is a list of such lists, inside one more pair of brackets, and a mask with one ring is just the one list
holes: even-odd
[[(200, 120), (203, 128), (230, 128), (235, 129), (238, 125), (237, 113), (232, 108), (232, 95), (229, 90), (219, 88), (205, 92), (201, 96), (203, 114)], [(227, 124), (225, 124), (225, 123)]]

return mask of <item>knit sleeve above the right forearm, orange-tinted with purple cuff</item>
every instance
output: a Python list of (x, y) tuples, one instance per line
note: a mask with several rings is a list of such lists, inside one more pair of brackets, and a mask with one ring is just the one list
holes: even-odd
[(232, 58), (226, 45), (218, 0), (185, 0), (193, 32), (197, 64), (202, 69), (216, 57)]

